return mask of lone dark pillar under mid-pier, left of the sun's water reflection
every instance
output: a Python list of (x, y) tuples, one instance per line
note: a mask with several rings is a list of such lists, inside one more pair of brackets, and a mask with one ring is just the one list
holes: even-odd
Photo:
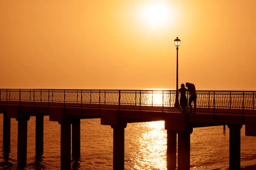
[(125, 127), (124, 125), (111, 126), (113, 128), (113, 170), (125, 169)]

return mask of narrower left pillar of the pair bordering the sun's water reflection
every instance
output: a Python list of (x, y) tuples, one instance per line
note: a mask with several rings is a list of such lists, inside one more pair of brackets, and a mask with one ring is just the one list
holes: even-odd
[(167, 130), (167, 170), (175, 170), (177, 167), (177, 132)]

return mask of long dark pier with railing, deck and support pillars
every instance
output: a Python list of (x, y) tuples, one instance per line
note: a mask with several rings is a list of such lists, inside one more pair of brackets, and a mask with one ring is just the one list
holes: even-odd
[(124, 170), (127, 124), (162, 120), (167, 130), (167, 169), (189, 170), (193, 128), (227, 125), (230, 170), (237, 170), (241, 127), (245, 126), (246, 136), (256, 136), (256, 91), (197, 91), (195, 114), (181, 113), (181, 108), (174, 107), (175, 95), (176, 91), (0, 89), (3, 146), (10, 146), (10, 121), (16, 119), (17, 162), (19, 167), (25, 167), (27, 122), (35, 116), (35, 152), (42, 155), (44, 116), (49, 116), (49, 121), (61, 126), (61, 170), (69, 170), (71, 156), (80, 158), (80, 120), (100, 118), (101, 125), (113, 129), (113, 170)]

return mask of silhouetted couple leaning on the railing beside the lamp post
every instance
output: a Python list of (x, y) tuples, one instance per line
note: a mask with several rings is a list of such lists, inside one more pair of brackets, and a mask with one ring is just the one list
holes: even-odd
[[(184, 84), (180, 85), (180, 89), (178, 91), (180, 92), (180, 107), (183, 109), (182, 113), (186, 113), (187, 111), (187, 104), (188, 100), (186, 98), (186, 91), (189, 91), (189, 113), (195, 113), (196, 110), (196, 91), (195, 91), (195, 85), (193, 83), (186, 82), (186, 87)], [(192, 102), (194, 102), (194, 112), (192, 112)]]

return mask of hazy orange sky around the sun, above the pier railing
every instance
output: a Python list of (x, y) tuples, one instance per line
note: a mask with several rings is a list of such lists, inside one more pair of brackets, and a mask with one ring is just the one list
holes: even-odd
[(0, 88), (256, 90), (256, 0), (0, 0)]

